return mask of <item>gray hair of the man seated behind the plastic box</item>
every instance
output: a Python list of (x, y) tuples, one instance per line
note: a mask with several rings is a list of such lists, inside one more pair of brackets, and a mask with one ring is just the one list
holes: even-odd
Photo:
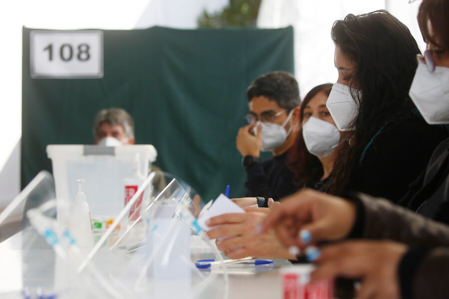
[(109, 123), (111, 126), (122, 126), (126, 137), (134, 138), (134, 121), (131, 115), (122, 108), (109, 108), (100, 110), (95, 116), (92, 133), (94, 139), (97, 139), (98, 128), (101, 124)]

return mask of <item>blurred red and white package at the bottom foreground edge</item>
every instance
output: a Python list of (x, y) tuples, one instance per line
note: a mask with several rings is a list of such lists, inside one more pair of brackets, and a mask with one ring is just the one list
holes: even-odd
[(280, 269), (284, 299), (333, 299), (333, 280), (310, 284), (313, 265), (297, 265)]

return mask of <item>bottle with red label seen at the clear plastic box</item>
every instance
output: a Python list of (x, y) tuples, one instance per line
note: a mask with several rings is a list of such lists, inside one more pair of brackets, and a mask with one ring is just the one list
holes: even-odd
[[(125, 178), (125, 205), (131, 200), (144, 181), (145, 176), (140, 172), (140, 157), (139, 154), (136, 153), (134, 156), (133, 172)], [(142, 192), (139, 199), (132, 205), (129, 211), (129, 219), (136, 220), (139, 218), (143, 194), (144, 192)]]

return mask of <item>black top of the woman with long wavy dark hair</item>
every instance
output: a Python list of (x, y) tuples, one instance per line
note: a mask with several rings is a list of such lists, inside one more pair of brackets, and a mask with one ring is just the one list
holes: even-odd
[(442, 126), (428, 125), (419, 116), (387, 124), (366, 148), (347, 189), (398, 202), (448, 137)]

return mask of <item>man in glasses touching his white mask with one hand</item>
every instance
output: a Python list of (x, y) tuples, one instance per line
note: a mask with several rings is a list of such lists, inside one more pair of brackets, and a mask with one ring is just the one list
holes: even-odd
[[(259, 196), (259, 206), (268, 198), (278, 200), (296, 190), (287, 167), (287, 151), (299, 129), (299, 88), (292, 74), (269, 72), (256, 78), (246, 90), (249, 125), (240, 128), (236, 145), (246, 170), (246, 196)], [(273, 157), (262, 161), (260, 151)]]

